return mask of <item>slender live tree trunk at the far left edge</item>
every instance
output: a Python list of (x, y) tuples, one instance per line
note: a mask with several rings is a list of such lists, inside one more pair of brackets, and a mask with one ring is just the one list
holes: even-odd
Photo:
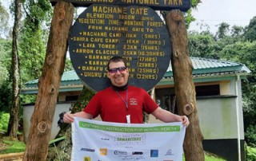
[(14, 6), (14, 29), (13, 29), (13, 43), (12, 43), (12, 59), (11, 59), (11, 71), (12, 71), (12, 103), (10, 108), (10, 120), (8, 124), (8, 135), (13, 138), (17, 138), (18, 132), (18, 111), (19, 111), (19, 62), (18, 62), (18, 29), (22, 18), (22, 3), (20, 0), (15, 0)]

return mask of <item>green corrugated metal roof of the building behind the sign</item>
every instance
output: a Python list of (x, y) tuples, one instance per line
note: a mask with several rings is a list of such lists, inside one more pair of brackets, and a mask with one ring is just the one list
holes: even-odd
[[(218, 61), (201, 57), (190, 57), (192, 61), (194, 81), (219, 81), (226, 79), (223, 77), (234, 77), (236, 75), (245, 76), (250, 72), (245, 65), (230, 61)], [(172, 84), (173, 73), (171, 65), (166, 74), (158, 84)], [(229, 78), (231, 79), (231, 78)], [(74, 70), (62, 74), (62, 82), (59, 92), (82, 90), (82, 81), (79, 80)], [(36, 94), (38, 92), (38, 80), (28, 81), (25, 88), (22, 88), (22, 94)]]

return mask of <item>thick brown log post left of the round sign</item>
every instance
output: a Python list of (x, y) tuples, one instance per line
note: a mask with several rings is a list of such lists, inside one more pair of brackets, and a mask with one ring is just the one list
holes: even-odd
[(38, 82), (38, 97), (23, 160), (46, 160), (73, 14), (74, 6), (71, 3), (59, 1), (54, 6), (45, 63)]

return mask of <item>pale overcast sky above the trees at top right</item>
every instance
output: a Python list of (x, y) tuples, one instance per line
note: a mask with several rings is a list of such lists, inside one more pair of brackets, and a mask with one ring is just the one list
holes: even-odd
[(192, 14), (197, 19), (189, 30), (202, 30), (199, 24), (207, 24), (215, 33), (222, 22), (230, 26), (248, 26), (250, 19), (256, 16), (256, 0), (202, 0)]

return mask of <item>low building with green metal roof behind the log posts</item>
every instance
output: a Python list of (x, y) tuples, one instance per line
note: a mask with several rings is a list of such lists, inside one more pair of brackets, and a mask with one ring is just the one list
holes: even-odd
[[(204, 136), (205, 151), (220, 155), (227, 160), (244, 157), (244, 128), (242, 116), (241, 80), (250, 74), (245, 65), (230, 61), (191, 57), (193, 81), (196, 90), (199, 124)], [(52, 139), (58, 133), (58, 114), (69, 111), (72, 101), (77, 100), (83, 84), (74, 71), (63, 73), (55, 110)], [(38, 80), (26, 83), (22, 94), (37, 94)], [(176, 112), (174, 79), (171, 69), (151, 90), (152, 97), (161, 108)], [(24, 104), (25, 138), (28, 136), (30, 116), (34, 104)], [(159, 123), (152, 116), (149, 123)]]

